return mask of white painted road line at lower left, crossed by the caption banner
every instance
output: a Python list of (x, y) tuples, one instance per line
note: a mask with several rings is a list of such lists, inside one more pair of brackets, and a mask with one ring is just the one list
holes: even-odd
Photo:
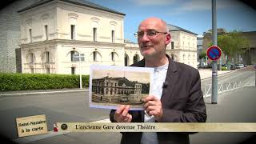
[[(102, 120), (95, 121), (95, 122), (110, 122), (110, 118), (102, 119)], [(28, 137), (16, 138), (16, 139), (13, 139), (12, 141), (16, 142), (16, 143), (29, 143), (29, 142), (42, 140), (44, 138), (51, 138), (54, 136), (68, 134), (68, 133), (70, 133), (70, 132), (68, 132), (68, 131), (66, 131), (66, 132), (49, 131), (47, 134), (38, 134), (38, 135), (32, 135), (32, 136), (28, 136)]]

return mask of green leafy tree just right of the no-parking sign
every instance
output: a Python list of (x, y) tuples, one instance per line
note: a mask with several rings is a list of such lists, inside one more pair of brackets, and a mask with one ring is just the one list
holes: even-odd
[[(208, 46), (212, 46), (212, 42), (210, 42)], [(241, 32), (233, 30), (230, 33), (218, 35), (218, 46), (227, 56), (226, 63), (229, 63), (230, 59), (234, 58), (235, 54), (242, 54), (242, 48), (249, 47), (249, 41), (242, 36)]]

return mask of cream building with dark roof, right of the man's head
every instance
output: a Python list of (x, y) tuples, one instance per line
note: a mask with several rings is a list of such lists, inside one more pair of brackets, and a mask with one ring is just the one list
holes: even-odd
[(177, 62), (197, 68), (197, 35), (189, 30), (168, 24), (171, 42), (166, 53)]

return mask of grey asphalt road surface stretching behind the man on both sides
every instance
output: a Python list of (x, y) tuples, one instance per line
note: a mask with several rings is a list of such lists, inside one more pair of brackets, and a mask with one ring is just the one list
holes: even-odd
[[(253, 82), (254, 74), (255, 72), (252, 70), (236, 70), (231, 74), (219, 76), (218, 82), (241, 81), (242, 84), (245, 85), (248, 84), (248, 82)], [(207, 83), (211, 83), (211, 78), (202, 80), (202, 89)], [(256, 107), (254, 102), (256, 98), (253, 97), (255, 92), (255, 87), (233, 90), (218, 97), (218, 105), (211, 105), (210, 98), (206, 98), (207, 122), (255, 122), (254, 109)], [(237, 95), (237, 97), (233, 95)], [(246, 98), (246, 101), (244, 101), (244, 98)], [(234, 103), (232, 101), (234, 101)], [(243, 109), (238, 110), (241, 106)], [(85, 90), (55, 94), (0, 96), (0, 114), (2, 117), (0, 120), (0, 133), (10, 139), (18, 138), (15, 118), (46, 114), (48, 130), (53, 130), (55, 122), (94, 122), (109, 118), (109, 110), (89, 108), (88, 91)], [(221, 136), (225, 135), (208, 133), (204, 134), (203, 138), (201, 138), (201, 134), (192, 135), (191, 143), (201, 142), (198, 140), (206, 142), (206, 138), (214, 138), (215, 136), (218, 139), (218, 137), (222, 138)], [(248, 138), (251, 134), (226, 133), (226, 135), (228, 139), (242, 139)], [(70, 133), (44, 138), (30, 143), (74, 142), (107, 144), (118, 143), (120, 142), (120, 138), (121, 134), (119, 133)], [(216, 140), (213, 142), (216, 142)]]

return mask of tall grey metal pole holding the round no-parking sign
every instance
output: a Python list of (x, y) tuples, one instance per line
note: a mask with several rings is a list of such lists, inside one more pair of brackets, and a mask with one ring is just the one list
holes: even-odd
[[(212, 40), (214, 46), (217, 46), (217, 18), (216, 18), (216, 0), (212, 0)], [(212, 93), (211, 103), (217, 104), (218, 99), (218, 68), (217, 61), (212, 62)]]

